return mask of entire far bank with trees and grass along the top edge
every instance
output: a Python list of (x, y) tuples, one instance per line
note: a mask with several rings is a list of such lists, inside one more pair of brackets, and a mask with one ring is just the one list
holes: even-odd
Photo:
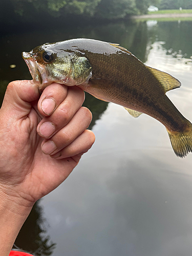
[[(47, 17), (119, 19), (146, 14), (147, 8), (155, 5), (159, 9), (192, 9), (192, 0), (1, 0), (0, 22), (37, 22)], [(5, 11), (6, 10), (6, 11)], [(7, 12), (7, 10), (9, 10)]]

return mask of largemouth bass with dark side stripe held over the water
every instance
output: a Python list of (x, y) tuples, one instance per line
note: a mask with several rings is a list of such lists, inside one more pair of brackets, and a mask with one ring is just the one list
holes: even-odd
[(119, 44), (78, 38), (46, 43), (22, 56), (39, 90), (52, 82), (78, 86), (122, 105), (133, 117), (144, 113), (161, 122), (178, 157), (192, 152), (192, 124), (165, 94), (181, 82), (146, 66)]

